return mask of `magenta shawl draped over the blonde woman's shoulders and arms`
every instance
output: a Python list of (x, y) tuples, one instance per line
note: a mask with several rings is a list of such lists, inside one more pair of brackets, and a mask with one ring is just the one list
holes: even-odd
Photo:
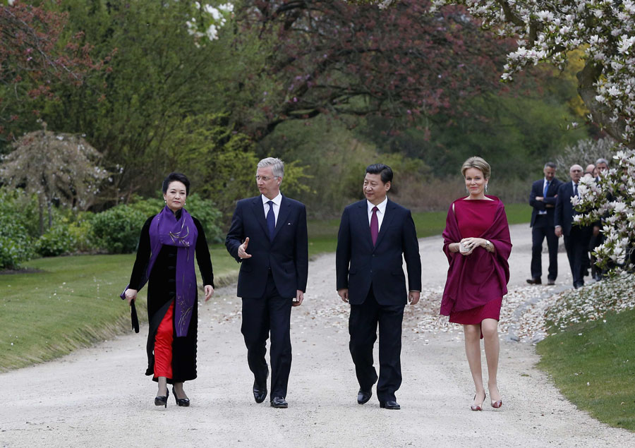
[(498, 205), (494, 222), (480, 238), (490, 240), (496, 249), (494, 253), (481, 247), (476, 248), (471, 255), (450, 252), (448, 246), (461, 241), (462, 236), (452, 205), (447, 212), (443, 231), (443, 252), (447, 256), (449, 268), (441, 301), (442, 315), (470, 310), (507, 294), (507, 259), (512, 252), (509, 224), (503, 203), (495, 196), (488, 195), (488, 198), (497, 200)]

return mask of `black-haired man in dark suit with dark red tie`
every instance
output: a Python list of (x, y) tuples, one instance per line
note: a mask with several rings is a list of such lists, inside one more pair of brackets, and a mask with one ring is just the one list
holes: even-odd
[[(365, 404), (377, 381), (373, 345), (380, 333), (380, 407), (399, 409), (394, 395), (401, 385), (401, 321), (404, 306), (419, 301), (421, 259), (410, 210), (388, 200), (392, 169), (384, 164), (366, 168), (365, 200), (344, 209), (337, 234), (337, 293), (351, 304), (349, 349), (359, 382), (357, 402)], [(408, 284), (401, 267), (406, 259)]]

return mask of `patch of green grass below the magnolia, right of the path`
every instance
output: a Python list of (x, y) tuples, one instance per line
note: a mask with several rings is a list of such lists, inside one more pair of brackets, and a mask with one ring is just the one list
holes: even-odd
[(635, 310), (577, 324), (541, 341), (538, 367), (562, 394), (608, 425), (635, 430)]

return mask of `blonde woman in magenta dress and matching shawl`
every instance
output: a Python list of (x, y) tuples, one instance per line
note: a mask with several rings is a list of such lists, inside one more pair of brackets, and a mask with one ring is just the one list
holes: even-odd
[(512, 250), (503, 203), (485, 195), (490, 165), (480, 157), (470, 157), (461, 167), (469, 195), (452, 202), (443, 231), (443, 251), (449, 262), (441, 302), (441, 314), (463, 325), (465, 352), (476, 387), (472, 411), (481, 411), (485, 387), (480, 363), (480, 339), (488, 363), (488, 389), (492, 407), (502, 399), (496, 374), (500, 344), (498, 320), (502, 297), (507, 293)]

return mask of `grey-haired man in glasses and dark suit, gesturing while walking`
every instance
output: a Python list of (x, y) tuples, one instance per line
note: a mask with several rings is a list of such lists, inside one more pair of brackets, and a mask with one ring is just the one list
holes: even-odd
[(271, 332), (271, 406), (286, 408), (291, 371), (291, 306), (302, 304), (308, 275), (306, 207), (280, 193), (282, 160), (258, 162), (260, 195), (239, 200), (225, 246), (241, 262), (238, 297), (243, 299), (241, 332), (253, 372), (253, 396), (267, 396), (266, 342)]

